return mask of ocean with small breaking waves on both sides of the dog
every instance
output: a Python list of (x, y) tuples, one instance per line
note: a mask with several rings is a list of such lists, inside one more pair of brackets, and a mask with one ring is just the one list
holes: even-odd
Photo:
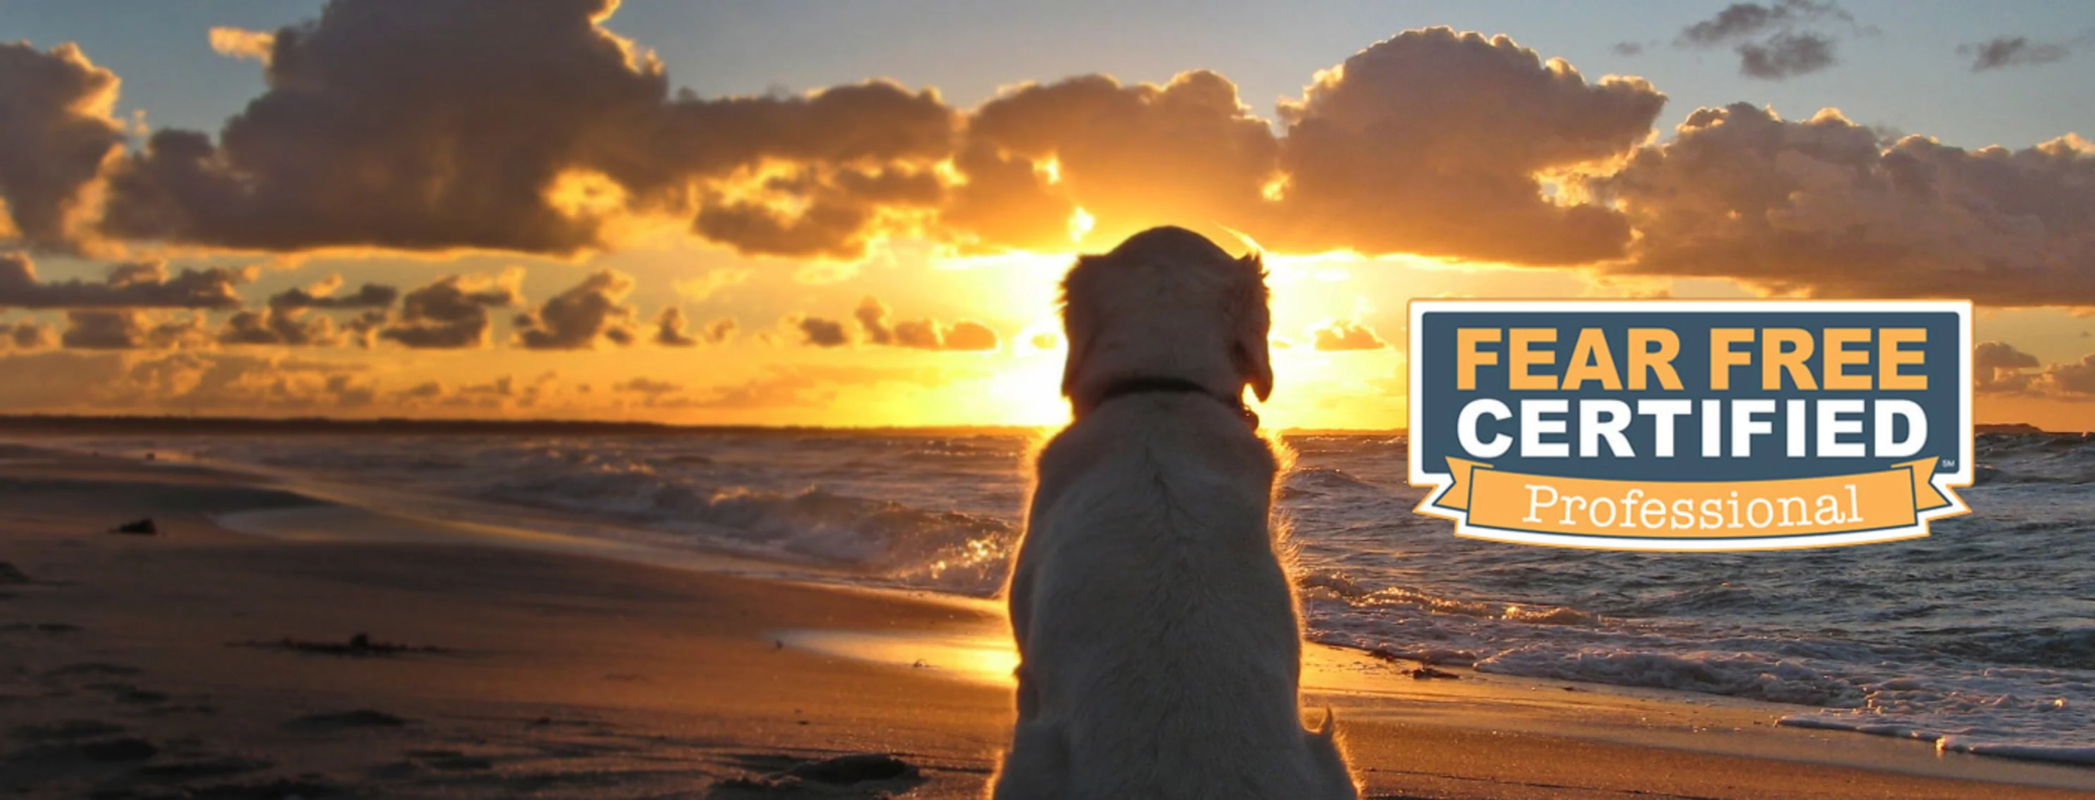
[[(126, 436), (155, 452), (429, 498), (432, 513), (731, 551), (821, 580), (987, 597), (1031, 434)], [(1309, 637), (1481, 672), (1793, 708), (1783, 725), (2095, 764), (2095, 440), (1988, 434), (1973, 513), (1921, 540), (1609, 553), (1456, 538), (1402, 436), (1293, 436), (1280, 492)], [(440, 501), (440, 503), (438, 503)], [(465, 509), (465, 511), (461, 511)], [(480, 511), (473, 511), (480, 509)]]

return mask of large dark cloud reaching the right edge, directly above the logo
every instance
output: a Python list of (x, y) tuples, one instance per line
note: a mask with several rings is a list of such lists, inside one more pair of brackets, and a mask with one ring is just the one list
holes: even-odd
[(2095, 306), (2095, 145), (1886, 145), (1837, 111), (1699, 109), (1594, 180), (1638, 241), (1615, 272), (1774, 293)]

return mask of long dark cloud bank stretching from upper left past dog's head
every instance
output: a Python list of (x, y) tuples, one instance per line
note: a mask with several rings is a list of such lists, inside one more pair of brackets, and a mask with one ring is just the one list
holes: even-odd
[(966, 113), (890, 82), (700, 98), (599, 25), (612, 8), (337, 0), (310, 23), (220, 29), (220, 50), (266, 42), (268, 90), (216, 138), (159, 130), (113, 155), (94, 230), (574, 255), (668, 220), (750, 255), (853, 260), (890, 232), (1062, 251), (1192, 222), (1295, 251), (1586, 264), (1628, 230), (1536, 176), (1619, 157), (1663, 103), (1452, 29), (1320, 73), (1280, 109), (1286, 136), (1213, 71), (1022, 84)]

